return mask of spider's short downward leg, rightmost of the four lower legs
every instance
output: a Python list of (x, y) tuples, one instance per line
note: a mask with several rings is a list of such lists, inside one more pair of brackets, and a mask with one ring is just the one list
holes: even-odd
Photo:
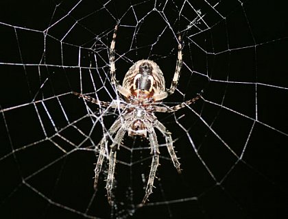
[(176, 153), (173, 149), (173, 140), (171, 137), (171, 132), (169, 132), (166, 129), (165, 125), (160, 123), (158, 120), (155, 120), (154, 124), (155, 124), (155, 127), (163, 134), (163, 136), (165, 136), (167, 149), (168, 149), (169, 155), (172, 159), (172, 162), (173, 162), (177, 172), (181, 173), (180, 163), (179, 163), (178, 158), (176, 157)]

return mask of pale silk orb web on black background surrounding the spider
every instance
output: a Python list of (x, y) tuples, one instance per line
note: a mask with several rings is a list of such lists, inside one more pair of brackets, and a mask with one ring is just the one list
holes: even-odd
[[(275, 1), (34, 1), (0, 3), (3, 218), (285, 218), (287, 214), (287, 16)], [(150, 59), (170, 86), (182, 36), (183, 68), (171, 131), (178, 175), (158, 134), (153, 194), (147, 140), (125, 136), (115, 206), (107, 162), (93, 190), (95, 146), (118, 110), (108, 75), (115, 24), (117, 79)], [(285, 216), (284, 216), (285, 215)], [(284, 216), (284, 217), (283, 217)]]

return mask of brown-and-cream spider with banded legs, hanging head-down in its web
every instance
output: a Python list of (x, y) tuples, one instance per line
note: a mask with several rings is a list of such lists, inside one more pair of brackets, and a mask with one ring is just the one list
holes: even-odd
[[(157, 120), (154, 112), (176, 112), (177, 110), (180, 110), (187, 105), (195, 103), (195, 101), (200, 99), (201, 93), (197, 94), (195, 98), (173, 107), (167, 107), (159, 104), (163, 99), (167, 98), (167, 96), (173, 94), (178, 85), (180, 70), (182, 68), (182, 45), (180, 36), (178, 38), (178, 59), (176, 62), (176, 70), (171, 82), (171, 87), (169, 89), (165, 89), (165, 79), (163, 77), (163, 72), (152, 60), (139, 60), (138, 62), (134, 63), (125, 74), (123, 85), (121, 86), (115, 77), (115, 40), (117, 36), (117, 29), (118, 25), (115, 26), (112, 42), (110, 45), (110, 77), (112, 85), (115, 86), (119, 94), (123, 96), (123, 101), (121, 101), (121, 103), (117, 103), (115, 101), (110, 103), (99, 101), (92, 98), (91, 96), (86, 96), (78, 92), (73, 92), (73, 94), (79, 96), (82, 99), (85, 99), (86, 101), (101, 105), (102, 107), (112, 107), (121, 110), (119, 118), (115, 120), (115, 123), (112, 124), (110, 129), (99, 142), (100, 151), (95, 167), (94, 188), (96, 190), (99, 173), (101, 172), (101, 167), (104, 162), (104, 157), (108, 158), (109, 166), (108, 177), (106, 180), (106, 190), (108, 203), (110, 203), (110, 205), (113, 203), (112, 189), (114, 185), (117, 150), (119, 150), (125, 133), (128, 132), (128, 136), (141, 136), (143, 138), (147, 138), (148, 136), (152, 155), (152, 164), (145, 189), (145, 196), (143, 197), (142, 201), (142, 204), (144, 204), (147, 201), (149, 195), (152, 194), (156, 170), (159, 165), (160, 152), (156, 132), (154, 130), (155, 128), (158, 129), (158, 131), (160, 131), (160, 133), (162, 133), (165, 137), (167, 149), (173, 165), (175, 166), (178, 173), (181, 173), (180, 163), (173, 149), (171, 133), (162, 123), (160, 123), (160, 121)], [(106, 149), (106, 143), (110, 138), (109, 136), (114, 135), (115, 137), (112, 139), (109, 155), (106, 156), (106, 150), (108, 150)]]

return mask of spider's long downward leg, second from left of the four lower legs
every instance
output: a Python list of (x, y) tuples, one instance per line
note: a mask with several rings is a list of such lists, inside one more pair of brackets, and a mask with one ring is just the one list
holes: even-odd
[(117, 149), (119, 150), (119, 146), (126, 132), (126, 127), (129, 127), (130, 123), (131, 123), (130, 121), (124, 123), (124, 125), (117, 132), (115, 138), (113, 139), (113, 143), (110, 146), (111, 149), (109, 154), (108, 177), (106, 181), (107, 197), (108, 197), (108, 203), (110, 203), (110, 205), (112, 205), (113, 201), (112, 189), (114, 184)]

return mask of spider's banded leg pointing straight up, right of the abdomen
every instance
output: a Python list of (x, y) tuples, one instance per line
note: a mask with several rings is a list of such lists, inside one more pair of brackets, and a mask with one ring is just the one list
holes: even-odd
[(177, 86), (178, 86), (178, 81), (180, 77), (180, 71), (182, 68), (183, 60), (182, 60), (182, 44), (181, 44), (181, 36), (178, 36), (178, 55), (177, 55), (177, 62), (176, 62), (176, 68), (175, 68), (175, 73), (171, 82), (171, 86), (168, 90), (166, 90), (163, 93), (154, 95), (154, 101), (160, 101), (165, 99), (167, 96), (173, 94), (175, 92)]

